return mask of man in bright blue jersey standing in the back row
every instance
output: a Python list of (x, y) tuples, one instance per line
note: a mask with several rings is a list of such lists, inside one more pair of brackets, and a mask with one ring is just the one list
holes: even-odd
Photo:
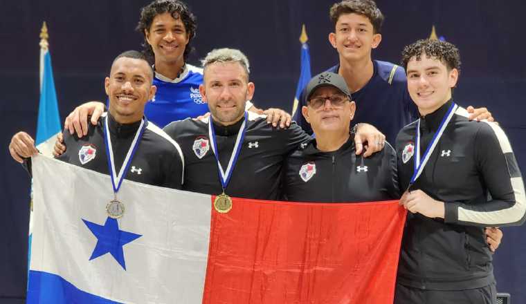
[[(145, 115), (150, 122), (164, 127), (170, 122), (197, 117), (208, 112), (206, 102), (199, 93), (203, 82), (203, 69), (186, 61), (192, 50), (197, 21), (188, 5), (181, 0), (155, 0), (140, 11), (136, 30), (144, 36), (144, 53), (154, 62), (156, 95), (146, 104)], [(267, 122), (284, 128), (291, 117), (285, 111), (269, 108), (262, 111), (248, 101), (248, 111), (264, 113)], [(75, 108), (66, 117), (70, 133), (86, 135), (87, 117), (96, 124), (104, 111), (102, 102), (88, 102)]]

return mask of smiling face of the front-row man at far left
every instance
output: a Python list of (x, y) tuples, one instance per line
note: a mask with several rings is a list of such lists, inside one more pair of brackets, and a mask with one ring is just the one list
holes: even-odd
[(117, 122), (129, 124), (143, 117), (144, 106), (156, 91), (152, 78), (152, 68), (145, 60), (121, 57), (114, 62), (105, 79), (105, 90), (109, 113)]

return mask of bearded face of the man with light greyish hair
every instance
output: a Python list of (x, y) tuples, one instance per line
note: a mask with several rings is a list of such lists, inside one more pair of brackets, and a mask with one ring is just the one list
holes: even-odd
[(254, 95), (254, 84), (248, 82), (248, 74), (238, 62), (217, 61), (204, 69), (199, 91), (213, 120), (228, 126), (243, 117), (246, 101)]

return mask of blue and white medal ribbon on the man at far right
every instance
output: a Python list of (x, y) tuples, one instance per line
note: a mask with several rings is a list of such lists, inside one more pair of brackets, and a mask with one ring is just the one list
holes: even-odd
[(442, 118), (442, 122), (440, 122), (440, 125), (438, 127), (437, 132), (435, 135), (433, 135), (433, 139), (428, 144), (426, 148), (426, 152), (424, 153), (424, 156), (420, 160), (420, 119), (418, 120), (417, 124), (417, 138), (415, 140), (415, 170), (412, 173), (412, 178), (409, 182), (409, 187), (415, 183), (417, 178), (420, 176), (422, 171), (424, 171), (424, 167), (426, 166), (431, 154), (435, 150), (435, 147), (438, 144), (438, 141), (440, 140), (440, 137), (442, 137), (442, 133), (444, 133), (444, 130), (446, 129), (446, 126), (448, 125), (451, 118), (453, 118), (453, 114), (455, 114), (455, 111), (457, 110), (458, 106), (455, 104), (455, 102), (451, 103), (451, 106), (449, 107), (446, 115)]

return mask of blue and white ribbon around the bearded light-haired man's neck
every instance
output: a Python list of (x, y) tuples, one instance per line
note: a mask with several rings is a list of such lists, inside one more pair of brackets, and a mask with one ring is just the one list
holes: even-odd
[(226, 189), (228, 182), (230, 182), (230, 177), (232, 176), (232, 172), (237, 162), (237, 158), (239, 157), (239, 152), (241, 152), (241, 146), (242, 146), (243, 139), (245, 137), (245, 132), (246, 132), (246, 121), (247, 120), (248, 120), (248, 113), (246, 113), (245, 111), (244, 121), (241, 127), (239, 128), (239, 132), (237, 133), (237, 139), (235, 140), (234, 149), (232, 151), (232, 155), (230, 155), (230, 161), (228, 161), (228, 167), (226, 167), (226, 171), (224, 171), (223, 167), (221, 167), (221, 162), (219, 162), (219, 152), (217, 151), (217, 143), (215, 140), (215, 130), (214, 130), (214, 124), (212, 122), (212, 117), (210, 117), (208, 120), (208, 136), (210, 137), (210, 142), (212, 142), (211, 144), (212, 151), (214, 151), (215, 160), (217, 161), (217, 168), (219, 171), (219, 180), (221, 180), (223, 191), (224, 189)]

